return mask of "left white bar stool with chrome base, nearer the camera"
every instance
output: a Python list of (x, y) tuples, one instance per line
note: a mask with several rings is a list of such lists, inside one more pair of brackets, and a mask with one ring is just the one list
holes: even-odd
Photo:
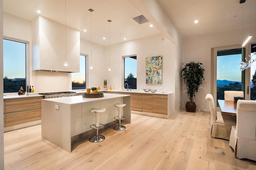
[(102, 142), (105, 140), (105, 136), (99, 135), (99, 128), (104, 128), (105, 125), (100, 124), (100, 113), (105, 112), (106, 109), (96, 109), (92, 108), (90, 109), (90, 112), (94, 112), (95, 118), (96, 118), (96, 123), (91, 125), (90, 128), (96, 129), (96, 136), (92, 136), (89, 140), (90, 142)]

